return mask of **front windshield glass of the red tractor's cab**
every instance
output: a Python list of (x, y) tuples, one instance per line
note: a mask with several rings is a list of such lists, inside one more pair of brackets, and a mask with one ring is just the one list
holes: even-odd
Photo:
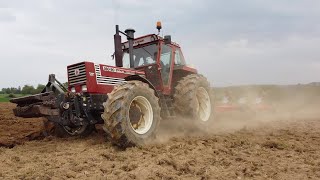
[[(134, 67), (146, 66), (156, 63), (158, 53), (157, 44), (151, 44), (144, 47), (133, 49)], [(123, 52), (123, 67), (130, 68), (130, 58), (128, 49)]]

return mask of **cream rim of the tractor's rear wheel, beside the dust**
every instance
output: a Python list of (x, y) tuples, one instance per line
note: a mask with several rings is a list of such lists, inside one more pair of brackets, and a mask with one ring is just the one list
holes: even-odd
[(199, 87), (197, 90), (197, 112), (201, 121), (208, 121), (211, 115), (211, 101), (207, 90)]

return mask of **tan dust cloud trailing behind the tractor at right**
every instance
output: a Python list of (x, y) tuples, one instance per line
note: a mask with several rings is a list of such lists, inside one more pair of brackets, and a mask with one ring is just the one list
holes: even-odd
[[(274, 124), (280, 128), (280, 125), (297, 120), (320, 119), (320, 88), (314, 86), (244, 86), (218, 89), (212, 93), (215, 111), (205, 127), (196, 128), (197, 120), (186, 116), (164, 119), (158, 132), (158, 142), (165, 143), (173, 137), (206, 137), (254, 130)], [(226, 97), (227, 103), (224, 102)], [(240, 103), (241, 100), (245, 102)], [(218, 110), (226, 104), (235, 109)], [(267, 108), (259, 109), (261, 106)]]

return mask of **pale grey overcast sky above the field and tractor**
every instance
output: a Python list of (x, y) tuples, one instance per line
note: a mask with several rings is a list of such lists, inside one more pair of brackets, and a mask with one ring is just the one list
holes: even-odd
[(319, 0), (0, 0), (0, 88), (114, 64), (114, 25), (182, 46), (217, 86), (320, 81)]

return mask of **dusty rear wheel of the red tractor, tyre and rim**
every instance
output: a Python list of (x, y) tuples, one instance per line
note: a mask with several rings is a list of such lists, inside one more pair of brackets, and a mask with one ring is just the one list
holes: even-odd
[(182, 78), (175, 87), (174, 108), (184, 116), (192, 118), (192, 124), (206, 128), (213, 119), (213, 97), (210, 83), (199, 74)]

